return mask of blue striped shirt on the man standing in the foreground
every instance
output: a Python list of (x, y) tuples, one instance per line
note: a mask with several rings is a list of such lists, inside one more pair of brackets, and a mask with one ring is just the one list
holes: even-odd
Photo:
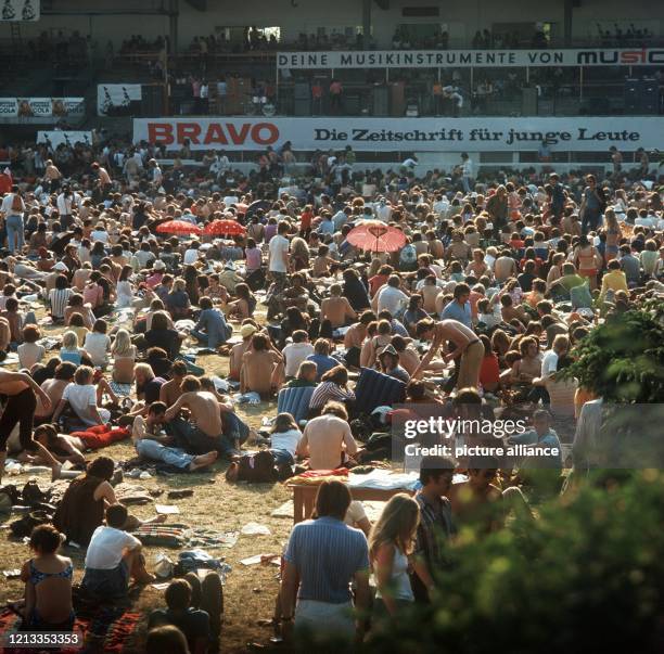
[(284, 559), (297, 568), (299, 600), (343, 604), (355, 573), (369, 569), (369, 547), (362, 531), (325, 516), (293, 527)]

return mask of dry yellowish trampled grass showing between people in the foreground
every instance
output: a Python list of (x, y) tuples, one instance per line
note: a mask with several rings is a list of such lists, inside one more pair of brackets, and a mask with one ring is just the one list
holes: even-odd
[[(44, 330), (48, 335), (55, 335), (61, 330)], [(48, 358), (48, 356), (47, 356)], [(228, 358), (217, 355), (200, 357), (197, 363), (205, 367), (207, 374), (224, 376), (228, 371)], [(261, 402), (256, 406), (240, 406), (238, 413), (251, 426), (257, 427), (265, 415), (276, 414), (276, 402)], [(103, 450), (104, 454), (117, 460), (127, 460), (136, 456), (129, 441), (124, 441)], [(230, 485), (224, 478), (227, 465), (216, 463), (202, 474), (183, 474), (168, 477), (157, 476), (151, 479), (127, 479), (128, 483), (140, 485), (146, 489), (163, 488), (165, 491), (176, 488), (191, 488), (193, 497), (168, 501), (179, 506), (181, 514), (175, 516), (174, 522), (186, 523), (195, 527), (206, 527), (216, 531), (240, 530), (250, 522), (267, 525), (270, 536), (241, 535), (233, 548), (208, 549), (215, 556), (224, 557), (232, 566), (225, 587), (225, 624), (221, 637), (224, 652), (241, 652), (246, 650), (248, 642), (266, 642), (271, 636), (269, 627), (259, 627), (256, 621), (269, 618), (272, 615), (273, 602), (279, 587), (278, 572), (274, 565), (243, 566), (240, 560), (254, 554), (281, 553), (288, 539), (292, 518), (272, 517), (270, 513), (288, 501), (291, 493), (281, 484), (273, 486), (259, 485)], [(28, 475), (7, 477), (7, 483), (14, 483), (22, 487), (28, 480)], [(35, 477), (40, 485), (47, 486), (49, 476)], [(165, 495), (162, 498), (166, 502)], [(131, 513), (141, 518), (154, 515), (151, 504), (131, 506)], [(0, 524), (5, 525), (16, 516), (0, 516)], [(20, 568), (29, 557), (27, 546), (21, 541), (10, 540), (8, 531), (0, 531), (0, 570)], [(145, 555), (149, 569), (154, 565), (157, 552), (169, 553), (171, 560), (177, 560), (177, 550), (146, 548)], [(67, 549), (75, 565), (75, 578), (80, 580), (84, 567), (84, 556), (79, 550)], [(142, 589), (137, 606), (143, 612), (163, 606), (162, 592), (152, 587)], [(23, 595), (23, 585), (18, 580), (5, 581), (0, 585), (0, 602), (4, 604), (10, 599)], [(144, 624), (141, 631), (144, 630)]]

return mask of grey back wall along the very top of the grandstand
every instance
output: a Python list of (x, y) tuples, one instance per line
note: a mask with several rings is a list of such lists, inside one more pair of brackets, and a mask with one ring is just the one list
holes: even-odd
[[(188, 46), (194, 36), (209, 35), (215, 27), (256, 25), (257, 27), (281, 27), (282, 38), (290, 40), (301, 31), (314, 33), (324, 26), (328, 31), (333, 28), (355, 27), (361, 25), (361, 0), (336, 0), (333, 5), (321, 0), (209, 0), (209, 9), (199, 12), (186, 0), (180, 0), (179, 33), (180, 46)], [(430, 24), (432, 18), (404, 18), (405, 7), (427, 7), (438, 4), (438, 0), (390, 0), (390, 9), (381, 10), (372, 4), (373, 36), (382, 48), (388, 48), (395, 27), (401, 23)], [(164, 4), (168, 4), (166, 0)], [(113, 40), (119, 44), (124, 38), (140, 33), (146, 38), (168, 33), (168, 18), (161, 16), (116, 15), (87, 16), (81, 5), (88, 11), (137, 11), (137, 9), (155, 9), (162, 5), (161, 0), (97, 0), (82, 2), (77, 0), (54, 0), (54, 11), (73, 11), (76, 15), (43, 15), (37, 24), (23, 24), (26, 37), (35, 36), (41, 30), (63, 29), (67, 33), (79, 30), (91, 34), (100, 46)], [(523, 0), (467, 0), (465, 2), (440, 2), (440, 17), (436, 23), (448, 26), (452, 44), (455, 40), (472, 38), (475, 30), (491, 28), (497, 23), (547, 22), (553, 23), (558, 34), (562, 34), (563, 0), (554, 2), (529, 2), (524, 11)], [(333, 11), (331, 8), (333, 7)], [(664, 2), (653, 0), (582, 0), (580, 7), (573, 13), (573, 34), (577, 38), (597, 36), (597, 23), (612, 27), (614, 22), (626, 26), (634, 22), (638, 27), (648, 26), (656, 35), (664, 34)], [(0, 26), (0, 38), (9, 37), (9, 26)]]

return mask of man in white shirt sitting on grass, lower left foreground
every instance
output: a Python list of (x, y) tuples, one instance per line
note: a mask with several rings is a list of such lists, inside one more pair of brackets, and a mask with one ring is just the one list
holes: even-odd
[(154, 576), (145, 569), (141, 541), (124, 531), (127, 509), (111, 504), (106, 509), (106, 526), (97, 527), (86, 554), (86, 572), (81, 586), (87, 593), (104, 600), (124, 598), (129, 579), (151, 584)]

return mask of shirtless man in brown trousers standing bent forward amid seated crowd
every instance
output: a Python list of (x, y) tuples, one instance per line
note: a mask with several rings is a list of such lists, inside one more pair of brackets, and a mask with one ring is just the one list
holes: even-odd
[(457, 374), (457, 388), (477, 387), (480, 383), (480, 368), (484, 357), (484, 345), (475, 332), (458, 320), (442, 320), (435, 322), (431, 319), (420, 320), (416, 326), (418, 338), (432, 341), (429, 351), (422, 357), (411, 379), (418, 379), (429, 367), (435, 354), (445, 341), (450, 341), (455, 349), (445, 355), (444, 360), (449, 362), (461, 357)]

